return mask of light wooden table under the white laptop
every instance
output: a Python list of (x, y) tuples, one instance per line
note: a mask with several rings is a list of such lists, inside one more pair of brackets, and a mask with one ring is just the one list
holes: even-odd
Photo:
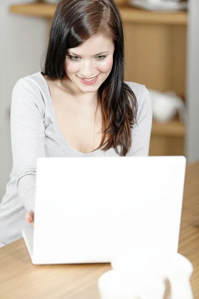
[[(186, 172), (179, 252), (194, 266), (199, 299), (199, 162)], [(0, 299), (99, 299), (97, 281), (110, 265), (34, 266), (23, 239), (0, 249)]]

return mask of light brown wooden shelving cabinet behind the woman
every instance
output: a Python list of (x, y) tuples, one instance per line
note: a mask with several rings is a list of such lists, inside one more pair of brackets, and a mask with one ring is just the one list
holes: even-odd
[[(56, 5), (12, 5), (13, 13), (45, 17), (49, 25)], [(119, 7), (125, 32), (125, 80), (185, 99), (187, 12), (153, 12)], [(178, 120), (153, 122), (150, 155), (185, 154), (185, 126)]]

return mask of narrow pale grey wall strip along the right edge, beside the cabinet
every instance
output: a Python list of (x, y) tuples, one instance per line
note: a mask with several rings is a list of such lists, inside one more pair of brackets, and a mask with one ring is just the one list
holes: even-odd
[(194, 162), (199, 160), (199, 0), (190, 0), (189, 6), (186, 155)]

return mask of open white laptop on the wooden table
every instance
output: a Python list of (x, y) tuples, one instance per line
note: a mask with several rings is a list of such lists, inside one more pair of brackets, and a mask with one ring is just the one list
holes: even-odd
[(37, 161), (32, 263), (109, 263), (125, 248), (178, 251), (186, 158), (44, 157)]

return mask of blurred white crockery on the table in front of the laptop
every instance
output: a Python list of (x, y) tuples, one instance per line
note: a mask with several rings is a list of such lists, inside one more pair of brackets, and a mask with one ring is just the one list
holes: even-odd
[(124, 251), (100, 276), (100, 299), (194, 299), (191, 262), (180, 254)]

